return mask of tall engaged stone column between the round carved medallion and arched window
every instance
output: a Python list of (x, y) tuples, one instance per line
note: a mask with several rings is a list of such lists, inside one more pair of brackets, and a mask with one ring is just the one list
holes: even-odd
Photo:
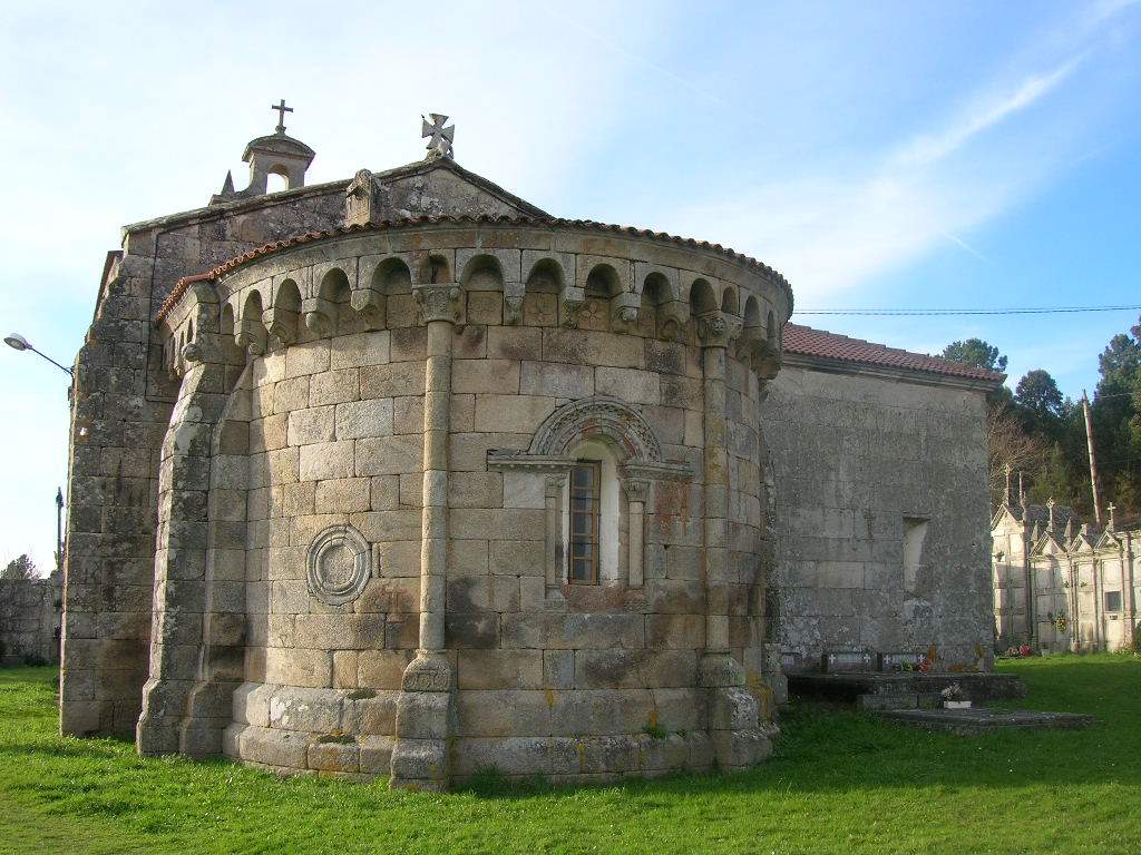
[(420, 547), (420, 649), (400, 681), (390, 785), (443, 790), (450, 771), (447, 739), (452, 669), (444, 656), (447, 573), (447, 439), (452, 406), (452, 328), (460, 288), (419, 285), (416, 304), (428, 325), (424, 364), (423, 511)]

